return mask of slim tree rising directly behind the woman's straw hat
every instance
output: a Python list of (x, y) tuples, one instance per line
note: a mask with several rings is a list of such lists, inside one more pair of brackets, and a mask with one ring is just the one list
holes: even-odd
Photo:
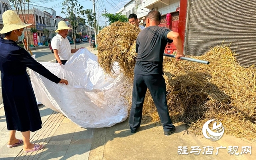
[[(21, 20), (24, 23), (27, 24), (28, 23), (28, 18), (29, 18), (28, 16), (29, 16), (29, 3), (30, 3), (30, 0), (9, 0), (9, 2), (14, 5), (16, 13), (18, 15), (20, 15), (20, 14), (22, 15), (22, 19)], [(25, 8), (25, 4), (28, 4), (28, 8)], [(25, 45), (24, 45), (24, 40), (22, 40), (22, 43), (24, 45), (24, 48), (28, 51), (28, 44), (29, 44), (28, 27), (25, 28), (25, 32), (26, 32), (26, 38), (27, 38), (27, 44), (26, 44), (27, 47), (25, 47)]]

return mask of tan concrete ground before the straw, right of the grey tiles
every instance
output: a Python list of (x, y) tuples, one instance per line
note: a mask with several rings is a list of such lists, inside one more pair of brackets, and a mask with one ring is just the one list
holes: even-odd
[[(187, 147), (179, 154), (178, 146)], [(200, 154), (190, 153), (192, 146), (199, 146)], [(209, 152), (207, 146), (213, 147)], [(216, 147), (219, 149), (216, 155)], [(238, 146), (230, 155), (229, 146)], [(252, 146), (252, 155), (242, 154), (242, 146)], [(204, 152), (204, 147), (206, 150)], [(181, 150), (180, 150), (181, 151)], [(204, 154), (203, 154), (204, 153)], [(206, 155), (207, 153), (207, 155)], [(232, 152), (231, 152), (232, 153)], [(109, 128), (94, 128), (89, 160), (253, 160), (256, 158), (256, 143), (225, 135), (218, 141), (211, 141), (203, 135), (187, 134), (184, 125), (176, 125), (176, 132), (170, 136), (163, 134), (160, 123), (146, 123), (135, 134), (129, 129), (128, 120)]]

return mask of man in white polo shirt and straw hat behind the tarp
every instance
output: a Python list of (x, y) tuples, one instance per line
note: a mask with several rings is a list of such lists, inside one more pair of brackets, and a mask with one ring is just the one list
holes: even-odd
[(68, 27), (64, 21), (60, 21), (58, 23), (58, 30), (55, 31), (58, 34), (54, 36), (51, 41), (54, 57), (56, 58), (56, 63), (60, 63), (60, 65), (65, 65), (68, 59), (70, 59), (71, 53), (76, 53), (76, 51), (80, 49), (71, 49), (71, 45), (67, 38), (69, 29), (72, 28)]

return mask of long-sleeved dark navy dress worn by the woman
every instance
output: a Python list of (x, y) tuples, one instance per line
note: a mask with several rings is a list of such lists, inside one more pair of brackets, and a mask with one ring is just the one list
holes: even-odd
[(36, 131), (42, 128), (42, 120), (36, 103), (27, 67), (54, 83), (60, 78), (34, 60), (23, 48), (12, 40), (0, 39), (0, 71), (2, 96), (7, 129)]

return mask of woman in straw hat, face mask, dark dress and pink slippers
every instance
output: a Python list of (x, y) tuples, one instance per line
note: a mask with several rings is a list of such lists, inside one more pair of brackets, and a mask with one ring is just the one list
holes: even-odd
[[(0, 70), (4, 112), (7, 129), (10, 130), (7, 147), (11, 148), (24, 142), (24, 152), (40, 150), (43, 145), (30, 143), (30, 131), (42, 128), (42, 120), (26, 68), (29, 67), (54, 83), (68, 85), (68, 81), (52, 74), (17, 45), (15, 41), (23, 40), (24, 27), (30, 24), (23, 23), (12, 10), (4, 12), (2, 18), (4, 28), (0, 34), (5, 34), (5, 38), (0, 39)], [(16, 138), (16, 130), (22, 133), (23, 140)]]

